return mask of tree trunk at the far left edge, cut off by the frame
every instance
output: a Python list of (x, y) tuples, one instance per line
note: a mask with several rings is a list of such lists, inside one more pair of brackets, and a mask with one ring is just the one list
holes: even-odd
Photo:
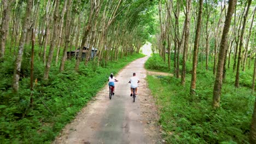
[(10, 20), (10, 11), (11, 4), (13, 4), (13, 0), (3, 0), (3, 11), (2, 11), (2, 21), (0, 26), (0, 61), (3, 61), (4, 53), (5, 53), (5, 43), (8, 34), (8, 25)]

